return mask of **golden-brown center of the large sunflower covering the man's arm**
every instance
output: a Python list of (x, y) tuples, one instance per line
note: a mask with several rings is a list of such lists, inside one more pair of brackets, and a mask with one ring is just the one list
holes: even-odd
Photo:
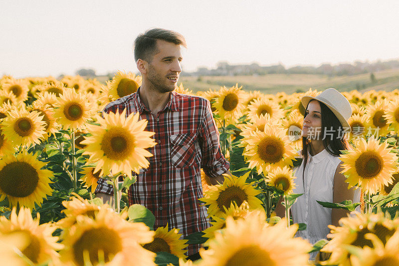
[(123, 128), (113, 128), (104, 134), (102, 150), (113, 160), (123, 160), (134, 148), (133, 135)]

